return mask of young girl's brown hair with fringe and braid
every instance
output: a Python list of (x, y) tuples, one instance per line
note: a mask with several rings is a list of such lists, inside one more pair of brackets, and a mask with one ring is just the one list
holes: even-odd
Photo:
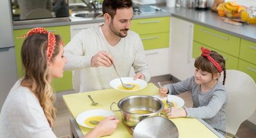
[[(224, 73), (223, 76), (223, 85), (225, 85), (225, 80), (226, 80), (226, 61), (223, 58), (223, 56), (221, 56), (219, 53), (217, 53), (216, 51), (211, 50), (211, 53), (208, 54), (209, 56), (211, 56), (215, 61), (217, 61)], [(206, 56), (199, 56), (198, 58), (196, 58), (196, 61), (194, 62), (194, 66), (196, 68), (198, 68), (199, 70), (202, 70), (203, 72), (209, 72), (212, 75), (219, 73), (219, 71), (217, 70), (216, 66), (213, 65), (213, 63), (211, 63), (211, 61), (206, 57)]]

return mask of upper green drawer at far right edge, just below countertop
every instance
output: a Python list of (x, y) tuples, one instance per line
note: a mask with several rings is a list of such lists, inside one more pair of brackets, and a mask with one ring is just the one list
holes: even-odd
[(242, 39), (240, 58), (256, 65), (256, 43)]

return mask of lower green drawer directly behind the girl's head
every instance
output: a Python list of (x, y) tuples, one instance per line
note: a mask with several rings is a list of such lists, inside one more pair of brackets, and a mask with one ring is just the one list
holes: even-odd
[(204, 48), (207, 48), (209, 50), (216, 51), (220, 53), (220, 55), (223, 56), (223, 58), (226, 60), (226, 70), (237, 70), (238, 68), (238, 58), (228, 55), (226, 53), (221, 52), (220, 50), (215, 50), (214, 48), (209, 48), (208, 46), (204, 46), (200, 43), (193, 42), (193, 51), (192, 51), (192, 57), (197, 58), (198, 56), (201, 55), (201, 46)]

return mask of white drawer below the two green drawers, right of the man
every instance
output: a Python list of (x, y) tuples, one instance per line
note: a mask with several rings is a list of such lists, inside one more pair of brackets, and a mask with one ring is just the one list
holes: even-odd
[[(169, 48), (145, 50), (145, 55), (151, 77), (169, 74)], [(133, 67), (131, 67), (129, 76), (134, 77), (134, 75)]]

